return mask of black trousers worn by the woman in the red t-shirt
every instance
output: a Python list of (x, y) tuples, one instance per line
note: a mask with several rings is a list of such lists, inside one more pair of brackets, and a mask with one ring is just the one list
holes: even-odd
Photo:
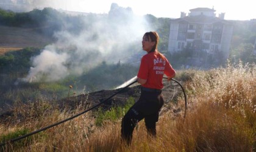
[(132, 142), (132, 133), (140, 120), (144, 119), (148, 133), (156, 136), (156, 122), (163, 106), (162, 91), (149, 92), (141, 90), (138, 100), (122, 119), (121, 137), (128, 145)]

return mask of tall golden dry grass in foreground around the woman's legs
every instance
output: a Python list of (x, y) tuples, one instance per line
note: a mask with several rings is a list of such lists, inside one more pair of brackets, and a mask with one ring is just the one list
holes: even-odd
[[(88, 113), (36, 134), (23, 145), (6, 145), (2, 151), (255, 151), (255, 64), (185, 72), (191, 77), (185, 83), (187, 116), (183, 118), (183, 111), (163, 112), (155, 139), (147, 135), (141, 121), (133, 131), (132, 145), (127, 147), (120, 138), (121, 120), (105, 121), (98, 127)], [(173, 106), (183, 108), (183, 98)], [(33, 131), (71, 115), (42, 113), (40, 119), (2, 124), (0, 134), (24, 128)]]

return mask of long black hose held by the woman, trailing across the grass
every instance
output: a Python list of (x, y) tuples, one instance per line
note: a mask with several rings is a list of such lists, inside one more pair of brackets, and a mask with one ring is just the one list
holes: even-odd
[[(166, 77), (163, 77), (163, 78), (166, 78)], [(180, 85), (179, 81), (177, 81), (177, 80), (175, 80), (175, 79), (173, 79), (173, 78), (171, 78), (171, 80), (176, 81), (176, 83), (178, 83), (178, 84)], [(116, 92), (115, 94), (113, 94), (113, 95), (111, 95), (110, 97), (108, 97), (108, 98), (107, 98), (106, 100), (104, 100), (103, 102), (100, 102), (100, 103), (98, 103), (97, 105), (94, 105), (93, 107), (91, 107), (91, 108), (89, 108), (89, 109), (87, 109), (87, 110), (85, 110), (85, 111), (83, 111), (83, 112), (80, 112), (79, 114), (76, 114), (76, 115), (74, 115), (74, 116), (72, 116), (72, 117), (69, 117), (68, 119), (64, 119), (64, 120), (62, 120), (62, 121), (60, 121), (60, 122), (54, 123), (54, 124), (49, 125), (49, 126), (46, 126), (46, 127), (44, 127), (44, 128), (41, 128), (40, 130), (32, 131), (31, 133), (24, 134), (23, 136), (20, 136), (20, 137), (16, 137), (15, 139), (10, 139), (8, 142), (0, 143), (0, 146), (2, 147), (2, 146), (4, 146), (6, 143), (16, 142), (17, 140), (21, 140), (21, 139), (23, 139), (23, 138), (32, 136), (33, 134), (40, 133), (41, 131), (44, 131), (44, 130), (48, 130), (49, 128), (52, 128), (52, 127), (57, 126), (57, 125), (60, 125), (61, 123), (67, 122), (68, 120), (74, 119), (74, 118), (76, 118), (76, 117), (78, 117), (78, 116), (80, 116), (80, 115), (82, 115), (82, 114), (85, 114), (86, 112), (91, 111), (92, 109), (98, 107), (98, 106), (101, 105), (102, 103), (107, 102), (107, 100), (109, 100), (110, 98), (114, 97), (116, 94), (118, 94), (119, 92), (123, 91), (124, 89), (128, 88), (129, 86), (133, 85), (133, 84), (136, 83), (136, 82), (137, 82), (137, 80), (136, 80), (136, 81), (133, 81), (133, 82), (130, 83), (129, 85), (127, 85), (127, 86), (125, 86), (124, 88), (120, 89), (120, 90), (119, 90), (118, 92)], [(185, 111), (186, 111), (186, 109), (187, 109), (187, 96), (186, 96), (186, 94), (185, 94), (185, 89), (183, 89), (182, 85), (180, 85), (180, 87), (182, 88), (182, 91), (183, 91), (183, 94), (184, 94), (184, 97), (185, 97)], [(185, 112), (185, 113), (186, 113), (186, 112)], [(185, 117), (185, 115), (184, 115), (184, 117)]]

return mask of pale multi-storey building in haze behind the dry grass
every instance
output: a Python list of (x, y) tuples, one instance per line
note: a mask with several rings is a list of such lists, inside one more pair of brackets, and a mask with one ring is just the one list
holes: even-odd
[(216, 17), (214, 9), (191, 9), (188, 15), (181, 12), (180, 18), (173, 19), (169, 30), (168, 52), (171, 54), (184, 49), (205, 51), (228, 58), (233, 24), (224, 19), (225, 13)]

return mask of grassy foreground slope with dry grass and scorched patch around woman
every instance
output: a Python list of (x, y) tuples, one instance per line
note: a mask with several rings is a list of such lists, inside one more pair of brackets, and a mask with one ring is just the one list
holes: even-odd
[[(125, 108), (119, 108), (119, 111), (118, 108), (110, 108), (105, 112), (90, 111), (34, 136), (8, 143), (1, 150), (255, 151), (255, 74), (255, 64), (229, 64), (226, 68), (209, 71), (178, 72), (176, 78), (184, 80), (183, 86), (188, 95), (186, 117), (182, 117), (182, 95), (172, 93), (179, 93), (179, 87), (167, 82), (163, 89), (166, 103), (157, 122), (157, 137), (147, 136), (146, 127), (141, 121), (133, 131), (130, 147), (126, 147), (120, 137)], [(121, 92), (106, 106), (136, 95), (137, 87)], [(57, 107), (52, 110), (51, 102), (44, 101), (20, 105), (15, 108), (16, 114), (12, 117), (15, 121), (9, 119), (10, 122), (7, 120), (0, 124), (0, 143), (74, 116), (84, 111), (86, 106), (91, 106), (83, 105), (82, 101), (100, 102), (116, 91), (98, 91), (59, 100), (59, 104), (66, 105), (65, 111), (59, 111)]]

